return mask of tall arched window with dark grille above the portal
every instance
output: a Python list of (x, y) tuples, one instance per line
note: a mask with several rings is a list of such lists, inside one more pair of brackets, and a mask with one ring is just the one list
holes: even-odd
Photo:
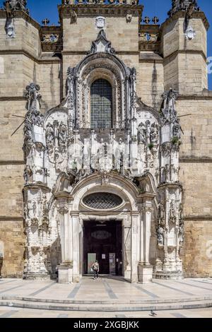
[(112, 86), (102, 78), (90, 87), (90, 128), (112, 128)]

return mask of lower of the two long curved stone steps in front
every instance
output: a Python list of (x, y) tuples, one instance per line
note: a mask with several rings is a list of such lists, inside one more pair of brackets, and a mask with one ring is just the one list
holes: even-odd
[(27, 309), (60, 310), (60, 311), (80, 311), (80, 312), (143, 312), (160, 310), (179, 310), (179, 309), (200, 309), (212, 307), (212, 300), (178, 302), (178, 303), (158, 303), (158, 304), (57, 304), (43, 302), (27, 302), (18, 300), (0, 300), (0, 307), (16, 307)]

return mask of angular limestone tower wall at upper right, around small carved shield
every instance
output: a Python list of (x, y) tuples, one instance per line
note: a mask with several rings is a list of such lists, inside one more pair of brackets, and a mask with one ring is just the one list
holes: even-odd
[(208, 88), (206, 28), (200, 18), (189, 20), (196, 36), (184, 36), (184, 18), (164, 25), (161, 45), (164, 62), (165, 90), (175, 88), (180, 94), (192, 95)]

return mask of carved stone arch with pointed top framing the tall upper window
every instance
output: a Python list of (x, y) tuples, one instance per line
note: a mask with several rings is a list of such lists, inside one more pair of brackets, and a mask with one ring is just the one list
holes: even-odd
[(93, 42), (90, 54), (78, 66), (68, 69), (66, 105), (76, 128), (90, 128), (90, 85), (98, 78), (112, 84), (114, 129), (126, 128), (135, 112), (136, 69), (129, 69), (114, 55), (103, 30)]

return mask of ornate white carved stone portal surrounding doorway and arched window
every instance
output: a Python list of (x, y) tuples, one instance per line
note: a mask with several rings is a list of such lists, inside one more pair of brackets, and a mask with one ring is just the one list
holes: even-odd
[[(90, 85), (99, 78), (112, 86), (112, 127), (96, 130), (90, 129)], [(58, 266), (59, 282), (77, 282), (86, 220), (122, 225), (124, 278), (181, 278), (177, 92), (163, 95), (160, 113), (144, 105), (136, 69), (115, 55), (104, 30), (68, 69), (66, 88), (66, 100), (44, 115), (40, 87), (26, 89), (24, 278), (50, 278)]]

